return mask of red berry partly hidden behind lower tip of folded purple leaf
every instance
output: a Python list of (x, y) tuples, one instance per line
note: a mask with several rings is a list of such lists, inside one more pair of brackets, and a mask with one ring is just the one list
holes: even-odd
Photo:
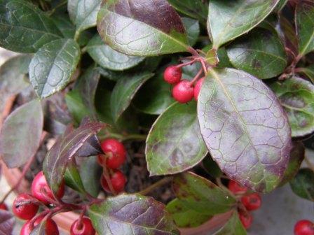
[[(42, 201), (44, 204), (50, 203), (47, 200), (47, 197), (50, 197), (50, 199), (55, 199), (55, 197), (53, 197), (53, 192), (50, 190), (50, 187), (48, 186), (46, 178), (43, 175), (43, 171), (40, 171), (33, 180), (32, 194), (34, 197), (36, 197), (36, 199), (39, 199), (39, 201)], [(61, 184), (56, 197), (60, 199), (63, 197), (63, 195), (64, 195), (64, 183)]]

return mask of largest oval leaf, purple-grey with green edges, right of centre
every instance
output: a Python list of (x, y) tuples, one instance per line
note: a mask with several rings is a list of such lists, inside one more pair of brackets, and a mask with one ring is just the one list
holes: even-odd
[(248, 73), (211, 69), (198, 98), (200, 131), (221, 170), (241, 185), (270, 192), (291, 148), (287, 115), (275, 94)]

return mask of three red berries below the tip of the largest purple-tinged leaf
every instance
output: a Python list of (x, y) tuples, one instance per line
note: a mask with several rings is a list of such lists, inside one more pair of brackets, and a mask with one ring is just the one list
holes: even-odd
[(250, 228), (253, 222), (253, 216), (250, 211), (255, 211), (261, 207), (261, 196), (256, 192), (247, 194), (247, 187), (239, 185), (234, 180), (229, 180), (228, 189), (235, 195), (243, 195), (240, 197), (240, 201), (245, 209), (243, 210), (239, 206), (239, 218), (245, 229)]

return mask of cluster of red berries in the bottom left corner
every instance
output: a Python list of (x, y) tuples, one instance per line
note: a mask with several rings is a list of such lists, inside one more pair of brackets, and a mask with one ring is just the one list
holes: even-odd
[[(22, 220), (27, 220), (23, 225), (20, 235), (29, 235), (36, 225), (46, 217), (45, 213), (40, 213), (35, 216), (39, 211), (39, 206), (49, 206), (54, 204), (56, 199), (61, 199), (64, 195), (64, 183), (60, 186), (60, 190), (53, 196), (53, 192), (50, 190), (43, 171), (39, 172), (32, 182), (32, 195), (31, 194), (19, 194), (13, 202), (13, 213)], [(46, 219), (45, 234), (58, 235), (59, 229), (53, 219)], [(71, 235), (95, 235), (95, 229), (92, 226), (92, 222), (88, 218), (82, 218), (76, 220), (71, 225)]]

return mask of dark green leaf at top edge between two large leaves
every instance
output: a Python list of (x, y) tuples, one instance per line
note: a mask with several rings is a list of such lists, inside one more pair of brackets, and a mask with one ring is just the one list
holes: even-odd
[(208, 4), (206, 1), (168, 0), (168, 2), (180, 13), (197, 19), (200, 22), (203, 22), (203, 24), (206, 23), (208, 15)]

